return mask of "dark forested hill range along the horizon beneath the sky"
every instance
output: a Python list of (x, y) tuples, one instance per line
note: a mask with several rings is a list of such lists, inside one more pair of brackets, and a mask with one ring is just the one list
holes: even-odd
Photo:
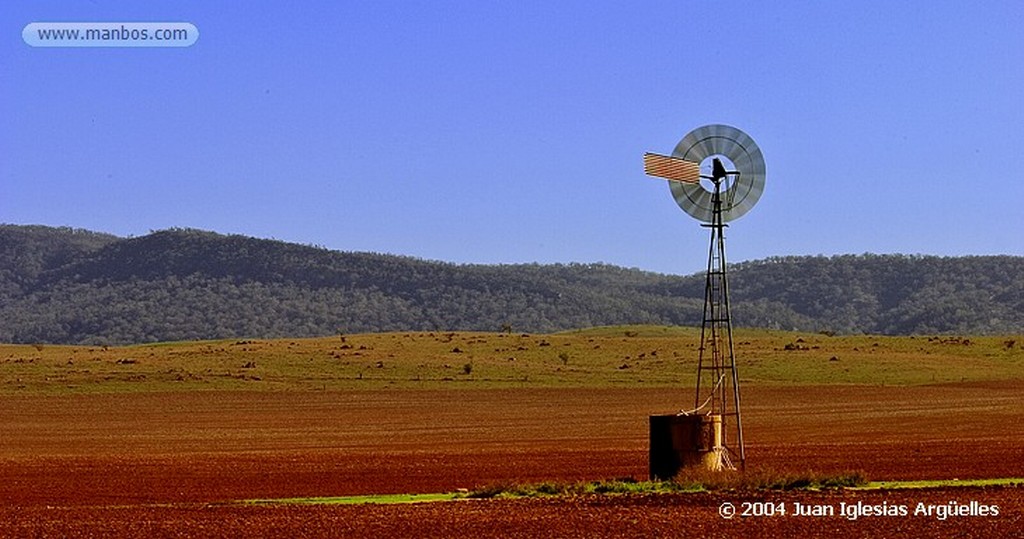
[[(738, 326), (1020, 333), (1024, 257), (781, 257), (730, 267)], [(0, 225), (0, 341), (134, 343), (390, 330), (699, 325), (703, 277), (462, 265), (194, 230)]]

